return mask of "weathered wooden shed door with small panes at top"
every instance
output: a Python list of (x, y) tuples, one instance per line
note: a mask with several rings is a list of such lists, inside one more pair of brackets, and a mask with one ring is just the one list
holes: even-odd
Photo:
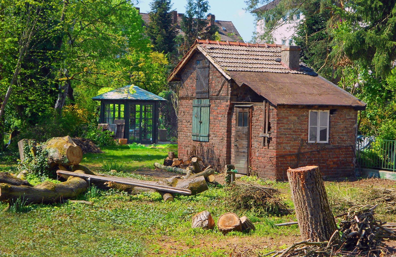
[(240, 174), (246, 174), (249, 168), (249, 129), (250, 109), (236, 109), (236, 126), (234, 132), (234, 166)]

